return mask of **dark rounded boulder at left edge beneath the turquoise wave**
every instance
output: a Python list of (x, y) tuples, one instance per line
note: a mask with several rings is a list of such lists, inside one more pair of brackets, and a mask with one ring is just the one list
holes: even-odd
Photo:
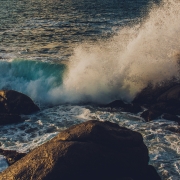
[(0, 112), (10, 114), (31, 114), (39, 111), (31, 98), (13, 90), (0, 91)]

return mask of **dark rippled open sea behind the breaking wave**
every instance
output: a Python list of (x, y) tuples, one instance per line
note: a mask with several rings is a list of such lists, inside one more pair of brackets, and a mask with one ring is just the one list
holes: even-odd
[(149, 0), (0, 1), (0, 52), (67, 59), (82, 41), (108, 39), (147, 14)]

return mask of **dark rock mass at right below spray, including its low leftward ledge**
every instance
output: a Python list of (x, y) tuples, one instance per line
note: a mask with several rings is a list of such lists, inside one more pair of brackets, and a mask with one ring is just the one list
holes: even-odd
[(167, 120), (179, 122), (177, 115), (180, 115), (180, 84), (164, 83), (163, 85), (153, 86), (149, 84), (136, 95), (131, 104), (126, 104), (121, 100), (113, 101), (105, 107), (115, 108), (131, 113), (146, 110), (141, 113), (145, 121), (151, 121), (159, 117)]

